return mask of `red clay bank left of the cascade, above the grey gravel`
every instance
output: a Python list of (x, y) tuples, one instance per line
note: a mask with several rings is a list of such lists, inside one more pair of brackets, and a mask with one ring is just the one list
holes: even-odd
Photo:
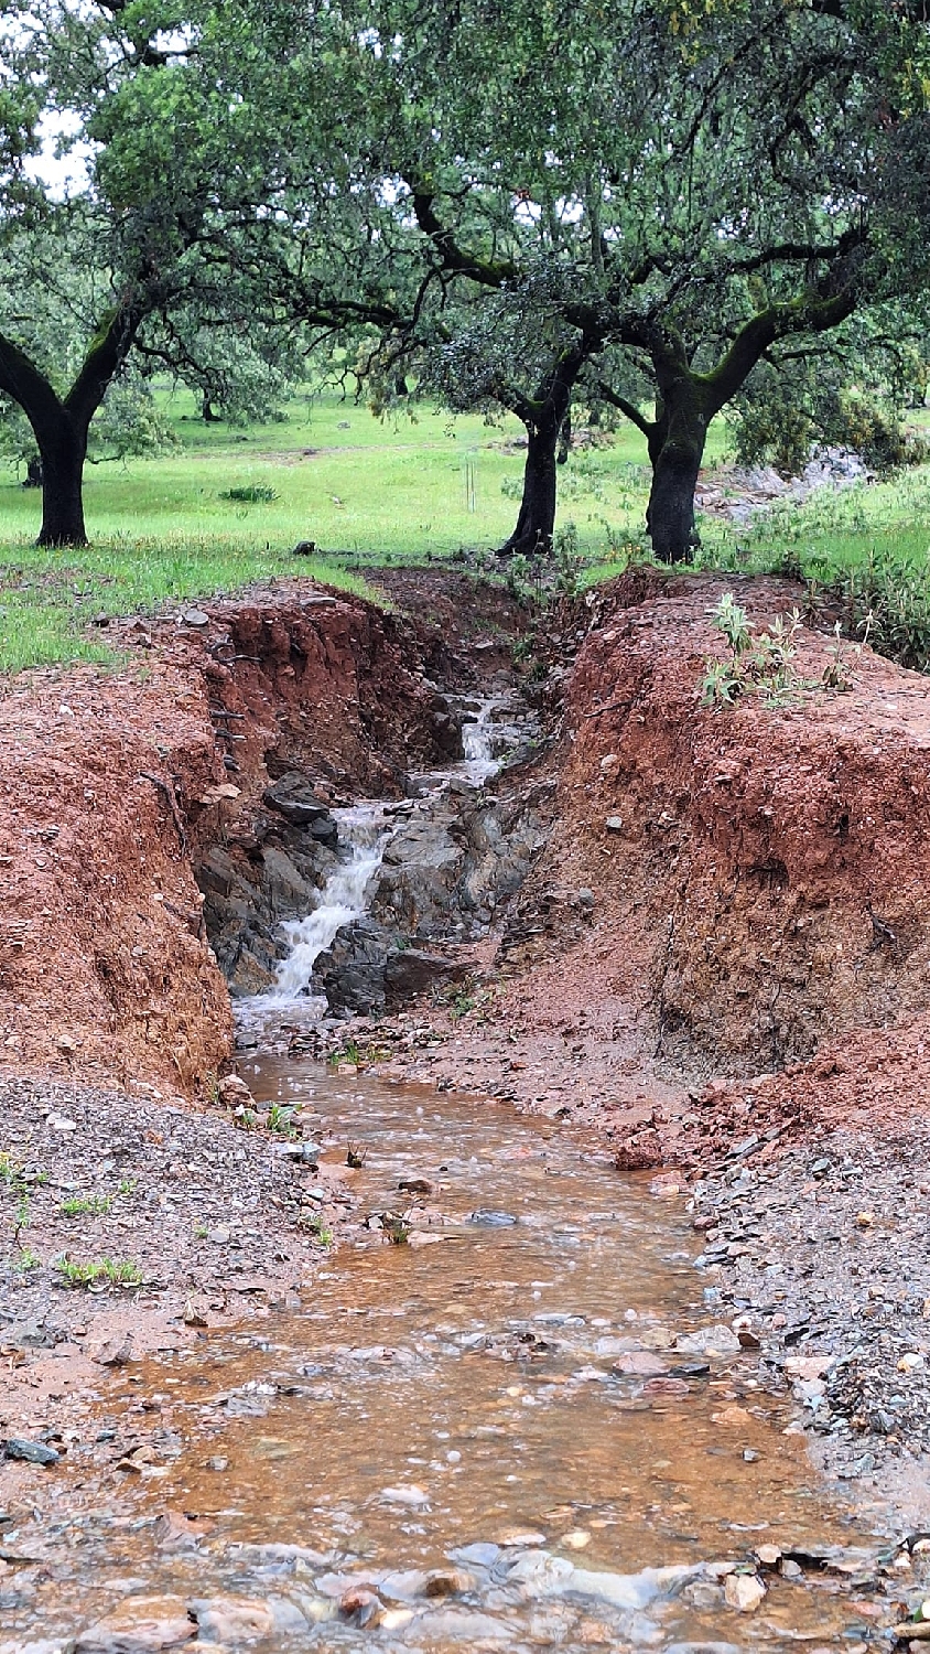
[(203, 1090), (231, 1017), (192, 858), (269, 764), (342, 801), (433, 756), (426, 629), (311, 581), (187, 612), (0, 691), (0, 1070)]

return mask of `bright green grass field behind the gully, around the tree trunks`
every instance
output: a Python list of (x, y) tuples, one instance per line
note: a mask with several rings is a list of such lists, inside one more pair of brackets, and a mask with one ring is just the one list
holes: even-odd
[[(0, 670), (106, 660), (106, 645), (88, 633), (94, 614), (145, 612), (256, 577), (302, 572), (360, 589), (365, 566), (380, 562), (464, 557), (491, 567), (489, 552), (515, 519), (524, 455), (514, 418), (487, 425), (421, 409), (416, 422), (377, 422), (335, 395), (296, 400), (281, 422), (248, 430), (205, 425), (187, 394), (165, 395), (165, 410), (173, 450), (88, 466), (89, 549), (36, 551), (40, 496), (12, 468), (0, 471)], [(707, 463), (725, 453), (719, 423)], [(580, 582), (618, 572), (624, 544), (643, 534), (643, 438), (623, 427), (610, 447), (573, 453), (558, 481), (558, 524), (575, 526)], [(243, 488), (274, 498), (225, 498)], [(306, 539), (319, 561), (291, 556)], [(875, 547), (923, 562), (930, 468), (780, 506), (752, 529), (705, 518), (702, 539), (700, 561), (717, 567), (790, 559), (826, 577)]]

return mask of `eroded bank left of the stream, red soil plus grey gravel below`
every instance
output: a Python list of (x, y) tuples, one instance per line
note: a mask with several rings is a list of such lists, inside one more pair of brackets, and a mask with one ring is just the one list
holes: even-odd
[[(401, 799), (410, 769), (461, 753), (434, 675), (467, 688), (464, 645), (496, 672), (501, 602), (456, 597), (453, 629), (278, 582), (111, 624), (122, 670), (0, 698), (0, 1434), (48, 1396), (66, 1426), (101, 1360), (266, 1315), (309, 1279), (312, 1146), (216, 1107), (243, 1095), (220, 966), (233, 989), (271, 981), (281, 920), (332, 862), (330, 807)], [(106, 1260), (140, 1285), (68, 1290), (64, 1265)]]

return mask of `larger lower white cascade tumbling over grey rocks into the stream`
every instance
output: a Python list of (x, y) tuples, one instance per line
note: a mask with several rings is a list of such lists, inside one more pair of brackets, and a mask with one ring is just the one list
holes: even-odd
[[(319, 906), (302, 920), (286, 920), (281, 926), (291, 953), (278, 968), (278, 984), (269, 994), (263, 994), (263, 1002), (286, 1006), (304, 999), (314, 964), (320, 953), (330, 946), (337, 931), (344, 925), (352, 925), (365, 913), (365, 892), (382, 865), (382, 857), (395, 825), (385, 822), (383, 804), (357, 804), (347, 810), (334, 812), (339, 825), (339, 839), (349, 852), (349, 862), (330, 873), (322, 892)], [(325, 1007), (325, 1001), (324, 1001)]]

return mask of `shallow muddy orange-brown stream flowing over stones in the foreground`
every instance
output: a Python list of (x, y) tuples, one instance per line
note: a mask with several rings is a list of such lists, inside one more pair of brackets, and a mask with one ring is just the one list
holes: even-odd
[[(0, 1647), (74, 1632), (134, 1593), (225, 1598), (226, 1616), (231, 1599), (261, 1598), (271, 1636), (253, 1644), (226, 1618), (216, 1637), (287, 1654), (372, 1639), (856, 1644), (867, 1619), (849, 1576), (768, 1575), (748, 1616), (709, 1566), (745, 1563), (758, 1543), (842, 1545), (856, 1576), (880, 1548), (818, 1492), (755, 1368), (613, 1371), (633, 1341), (656, 1366), (694, 1363), (667, 1346), (715, 1320), (681, 1199), (502, 1105), (309, 1062), (246, 1078), (319, 1115), (320, 1164), (363, 1145), (363, 1168), (345, 1173), (357, 1212), (405, 1212), (413, 1244), (362, 1229), (261, 1335), (205, 1336), (149, 1361), (142, 1384), (114, 1381), (117, 1439), (130, 1408), (149, 1409), (157, 1462), (127, 1492), (111, 1477), (63, 1494), (51, 1580), (25, 1599), (0, 1581)], [(408, 1178), (434, 1184), (413, 1212)], [(429, 1571), (446, 1578), (429, 1585)], [(355, 1585), (383, 1606), (347, 1619), (339, 1601)], [(449, 1585), (459, 1594), (426, 1594)]]

